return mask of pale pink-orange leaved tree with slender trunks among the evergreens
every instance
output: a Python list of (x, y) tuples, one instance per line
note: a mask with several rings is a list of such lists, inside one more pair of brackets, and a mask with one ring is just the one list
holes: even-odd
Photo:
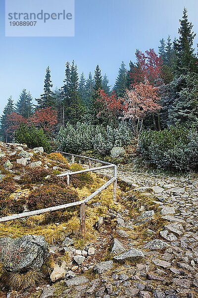
[(145, 84), (134, 85), (133, 89), (126, 91), (124, 119), (129, 119), (136, 137), (139, 136), (145, 117), (160, 109), (158, 104), (157, 87), (146, 81)]

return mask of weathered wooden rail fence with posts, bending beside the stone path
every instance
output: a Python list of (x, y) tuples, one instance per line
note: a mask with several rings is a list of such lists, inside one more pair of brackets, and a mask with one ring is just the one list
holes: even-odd
[[(57, 211), (57, 210), (65, 209), (68, 207), (80, 205), (80, 233), (82, 234), (82, 236), (85, 236), (85, 206), (86, 206), (86, 203), (88, 203), (90, 200), (92, 200), (94, 197), (96, 197), (101, 191), (103, 191), (105, 188), (107, 188), (110, 184), (113, 184), (113, 200), (114, 201), (116, 200), (117, 166), (115, 164), (112, 164), (112, 163), (109, 163), (106, 161), (102, 161), (99, 159), (87, 157), (87, 156), (77, 155), (77, 154), (71, 154), (71, 153), (66, 153), (66, 152), (61, 152), (61, 151), (55, 151), (55, 152), (59, 152), (59, 153), (71, 156), (71, 163), (74, 163), (75, 157), (88, 160), (88, 166), (89, 166), (88, 169), (75, 171), (75, 172), (65, 171), (65, 172), (57, 175), (58, 177), (66, 176), (67, 185), (69, 185), (69, 183), (70, 183), (70, 181), (69, 181), (70, 175), (81, 174), (81, 173), (85, 173), (85, 172), (93, 172), (93, 171), (98, 171), (98, 170), (106, 169), (106, 168), (113, 169), (113, 177), (110, 180), (108, 180), (106, 183), (104, 183), (101, 187), (99, 187), (89, 197), (87, 197), (86, 199), (84, 199), (82, 201), (2, 217), (2, 218), (0, 218), (0, 223), (13, 221), (13, 220), (17, 220), (17, 219), (22, 219), (22, 218), (26, 218), (26, 217), (30, 217), (30, 216), (43, 214), (46, 212)], [(97, 162), (97, 163), (101, 163), (104, 165), (92, 168), (92, 161), (94, 161), (95, 163)]]

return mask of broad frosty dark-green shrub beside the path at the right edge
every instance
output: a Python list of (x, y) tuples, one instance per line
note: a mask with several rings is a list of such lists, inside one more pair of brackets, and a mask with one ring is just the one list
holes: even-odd
[(142, 132), (138, 151), (158, 168), (198, 170), (198, 132), (193, 129), (171, 127)]

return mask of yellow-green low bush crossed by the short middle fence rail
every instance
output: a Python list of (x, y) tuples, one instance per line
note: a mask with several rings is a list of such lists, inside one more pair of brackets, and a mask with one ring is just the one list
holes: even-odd
[[(73, 163), (70, 166), (72, 172), (84, 170), (84, 167), (81, 164)], [(81, 188), (83, 186), (88, 186), (94, 183), (94, 179), (89, 172), (70, 175), (70, 182), (75, 188)]]

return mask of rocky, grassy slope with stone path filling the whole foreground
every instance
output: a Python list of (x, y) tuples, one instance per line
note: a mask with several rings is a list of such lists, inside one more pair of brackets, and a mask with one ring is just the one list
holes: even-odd
[[(68, 186), (56, 175), (79, 163), (20, 144), (0, 149), (1, 217), (80, 201), (110, 175), (74, 175)], [(85, 238), (78, 206), (1, 223), (0, 297), (197, 297), (197, 180), (130, 165), (118, 179), (117, 202), (110, 186), (86, 205)]]

